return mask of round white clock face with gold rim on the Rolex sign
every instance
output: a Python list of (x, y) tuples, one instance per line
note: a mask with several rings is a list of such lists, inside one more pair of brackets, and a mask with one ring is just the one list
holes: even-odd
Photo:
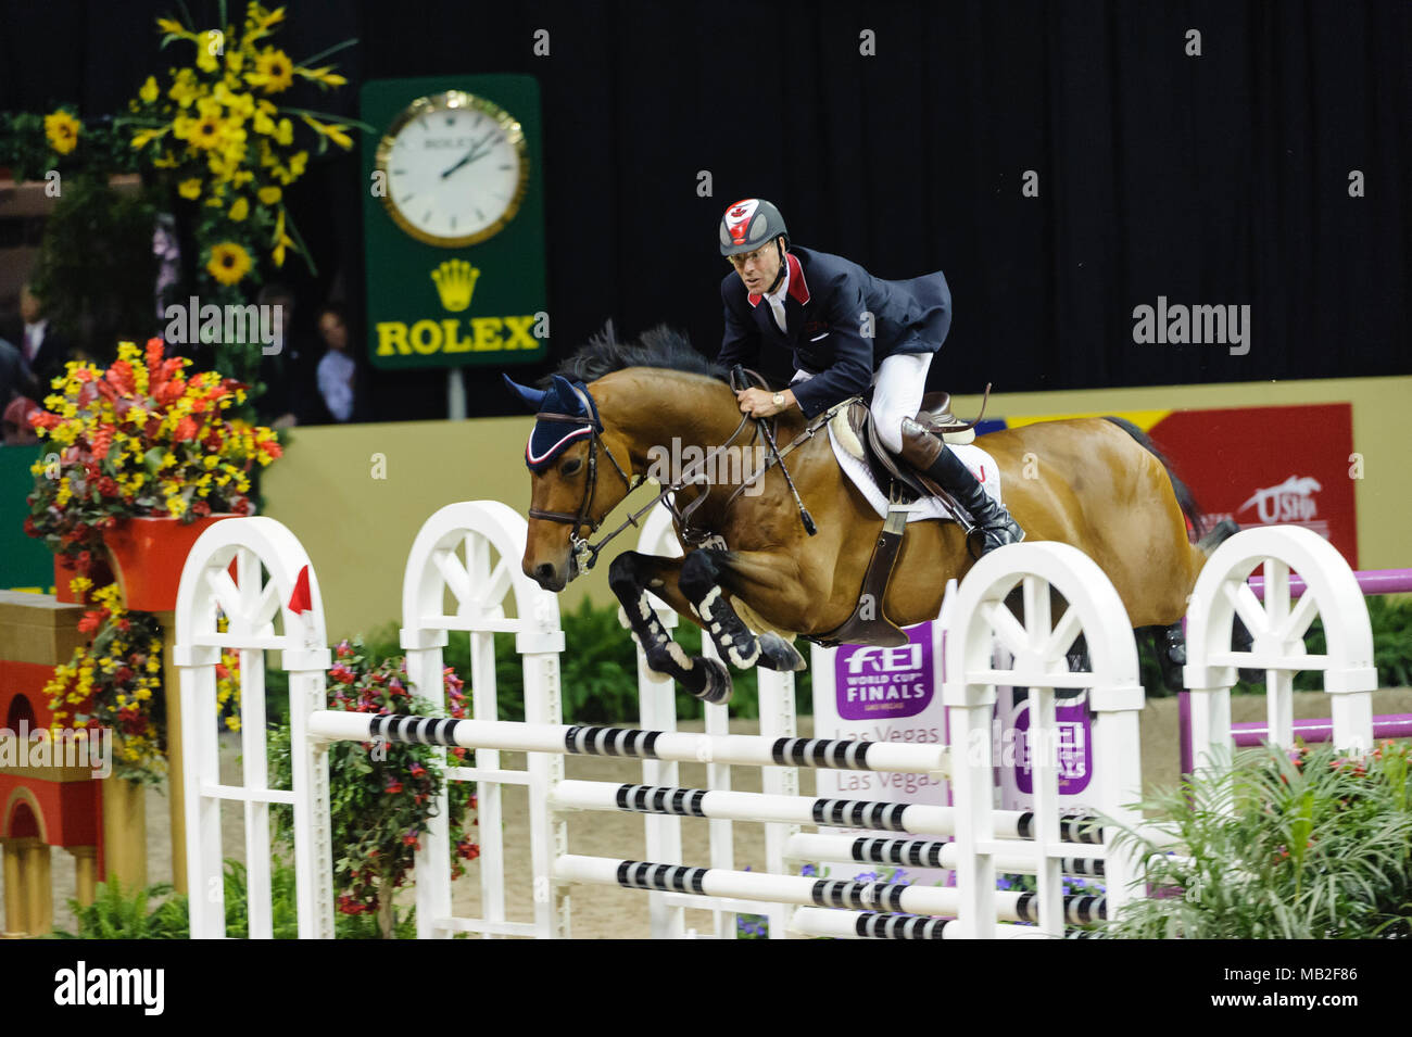
[(514, 219), (530, 176), (520, 123), (498, 104), (460, 90), (412, 102), (377, 148), (383, 203), (428, 244), (484, 241)]

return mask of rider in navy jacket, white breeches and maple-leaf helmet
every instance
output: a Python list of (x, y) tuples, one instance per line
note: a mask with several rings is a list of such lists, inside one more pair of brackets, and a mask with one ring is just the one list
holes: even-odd
[(912, 420), (932, 356), (952, 325), (952, 293), (940, 271), (880, 281), (839, 255), (791, 247), (784, 217), (761, 198), (736, 202), (722, 216), (720, 254), (736, 275), (720, 284), (726, 336), (717, 363), (754, 363), (768, 344), (792, 350), (796, 368), (784, 392), (738, 391), (741, 412), (770, 418), (798, 406), (813, 418), (871, 382), (868, 409), (878, 440), (970, 512), (981, 533), (980, 553), (1024, 539), (970, 468)]

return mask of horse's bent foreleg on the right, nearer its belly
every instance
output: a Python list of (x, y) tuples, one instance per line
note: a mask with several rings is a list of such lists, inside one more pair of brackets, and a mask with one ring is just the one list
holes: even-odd
[[(727, 594), (746, 601), (760, 600), (758, 591), (774, 597), (798, 597), (801, 607), (808, 594), (788, 571), (794, 566), (784, 554), (770, 552), (695, 550), (682, 560), (676, 583), (696, 608), (702, 626), (712, 635), (716, 649), (731, 666), (747, 670), (765, 666), (771, 670), (802, 670), (805, 666), (794, 645), (772, 631), (754, 633), (736, 614)], [(788, 602), (785, 602), (788, 607)], [(802, 611), (801, 611), (802, 617)]]

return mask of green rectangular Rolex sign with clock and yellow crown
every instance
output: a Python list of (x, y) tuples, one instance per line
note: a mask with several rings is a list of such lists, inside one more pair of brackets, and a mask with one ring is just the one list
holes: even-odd
[(532, 76), (364, 83), (363, 237), (376, 367), (545, 354), (539, 85)]

